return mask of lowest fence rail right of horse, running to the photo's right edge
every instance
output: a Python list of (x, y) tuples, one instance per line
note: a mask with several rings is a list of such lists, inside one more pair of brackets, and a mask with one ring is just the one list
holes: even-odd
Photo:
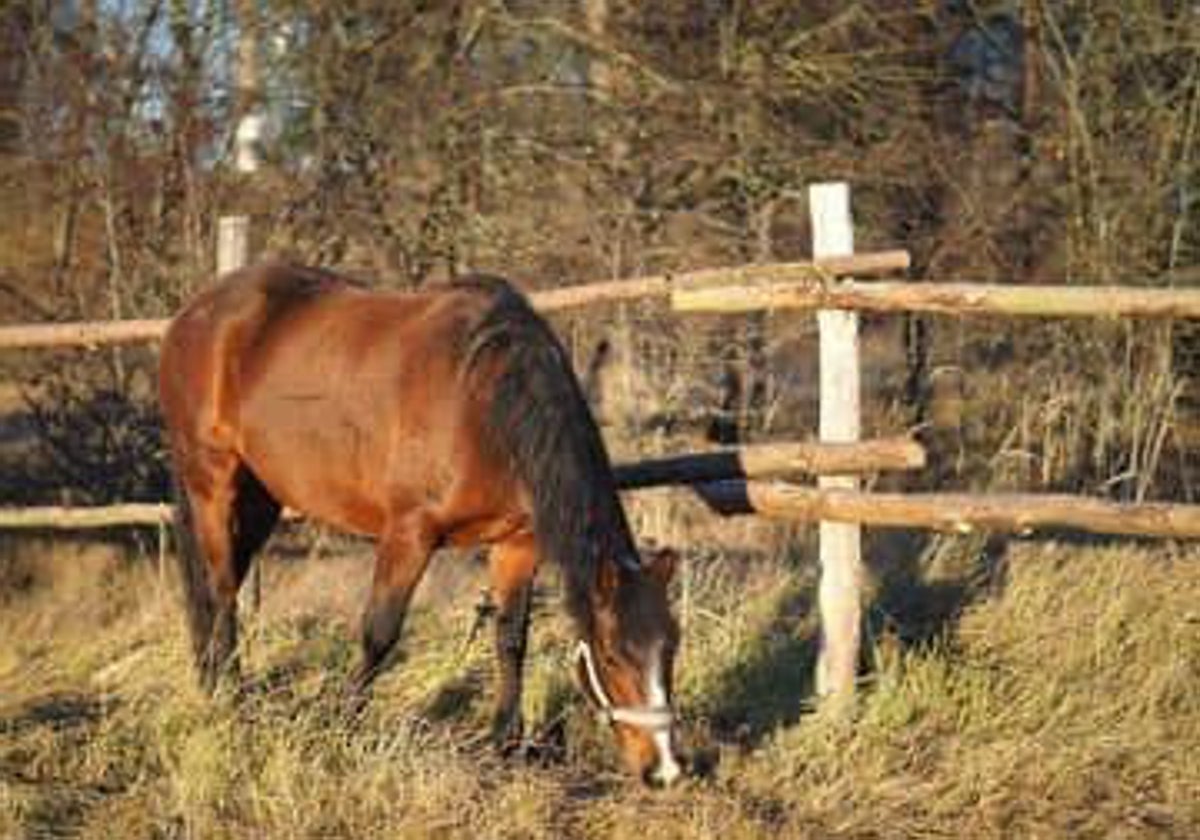
[(698, 485), (696, 490), (722, 514), (754, 512), (781, 520), (862, 522), (958, 534), (1064, 529), (1127, 536), (1200, 538), (1200, 505), (1122, 504), (1050, 493), (869, 493), (762, 481), (722, 481)]

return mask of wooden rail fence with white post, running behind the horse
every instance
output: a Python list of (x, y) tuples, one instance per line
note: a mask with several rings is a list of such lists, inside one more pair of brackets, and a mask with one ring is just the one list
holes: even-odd
[[(820, 440), (622, 464), (617, 468), (617, 478), (624, 490), (691, 485), (722, 512), (756, 512), (822, 523), (818, 593), (822, 648), (817, 664), (821, 695), (846, 698), (854, 686), (862, 613), (862, 523), (954, 533), (1068, 528), (1105, 534), (1200, 538), (1200, 505), (1115, 504), (1058, 494), (882, 494), (862, 492), (856, 478), (863, 473), (924, 464), (924, 451), (911, 440), (858, 440), (857, 311), (1200, 318), (1200, 290), (846, 280), (905, 270), (908, 256), (904, 251), (853, 253), (845, 185), (814, 186), (810, 206), (816, 257), (812, 262), (637, 277), (536, 292), (530, 298), (542, 311), (659, 299), (680, 313), (818, 312)], [(6, 326), (0, 328), (0, 349), (155, 341), (164, 328), (163, 320)], [(800, 474), (821, 476), (818, 486), (802, 487), (778, 480)], [(169, 506), (163, 504), (0, 510), (0, 528), (161, 526), (169, 512)]]

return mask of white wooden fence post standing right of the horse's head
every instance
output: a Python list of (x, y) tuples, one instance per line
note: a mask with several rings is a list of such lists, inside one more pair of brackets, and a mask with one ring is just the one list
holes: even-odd
[[(841, 257), (854, 251), (854, 228), (846, 184), (814, 184), (809, 187), (812, 218), (812, 257)], [(835, 282), (835, 281), (830, 281)], [(822, 310), (817, 313), (821, 336), (821, 440), (858, 440), (859, 365), (858, 313)], [(821, 476), (821, 487), (856, 490), (854, 476)], [(854, 696), (862, 622), (862, 528), (858, 524), (822, 522), (820, 530), (821, 650), (817, 658), (817, 695), (835, 708)]]

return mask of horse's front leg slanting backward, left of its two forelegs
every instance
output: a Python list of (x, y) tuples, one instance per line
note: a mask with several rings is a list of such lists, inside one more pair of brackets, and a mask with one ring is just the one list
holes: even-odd
[(436, 535), (420, 514), (389, 523), (379, 538), (371, 595), (362, 614), (362, 662), (350, 679), (350, 701), (358, 708), (385, 670), (400, 640), (408, 604), (428, 568)]

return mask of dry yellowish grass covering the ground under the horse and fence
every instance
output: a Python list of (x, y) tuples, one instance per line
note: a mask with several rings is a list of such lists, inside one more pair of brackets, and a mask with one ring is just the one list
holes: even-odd
[[(948, 545), (916, 586), (979, 582), (973, 546)], [(469, 570), (431, 581), (407, 660), (348, 722), (350, 623), (314, 595), (344, 563), (271, 565), (245, 696), (210, 702), (145, 564), (60, 548), (0, 608), (0, 836), (1194, 836), (1198, 560), (1014, 544), (932, 642), (905, 647), (908, 617), (888, 616), (841, 728), (802, 714), (811, 570), (692, 552), (679, 694), (709, 772), (653, 794), (570, 689), (550, 576), (527, 716), (565, 749), (503, 762), (480, 737), (491, 660), (487, 634), (466, 637)]]

